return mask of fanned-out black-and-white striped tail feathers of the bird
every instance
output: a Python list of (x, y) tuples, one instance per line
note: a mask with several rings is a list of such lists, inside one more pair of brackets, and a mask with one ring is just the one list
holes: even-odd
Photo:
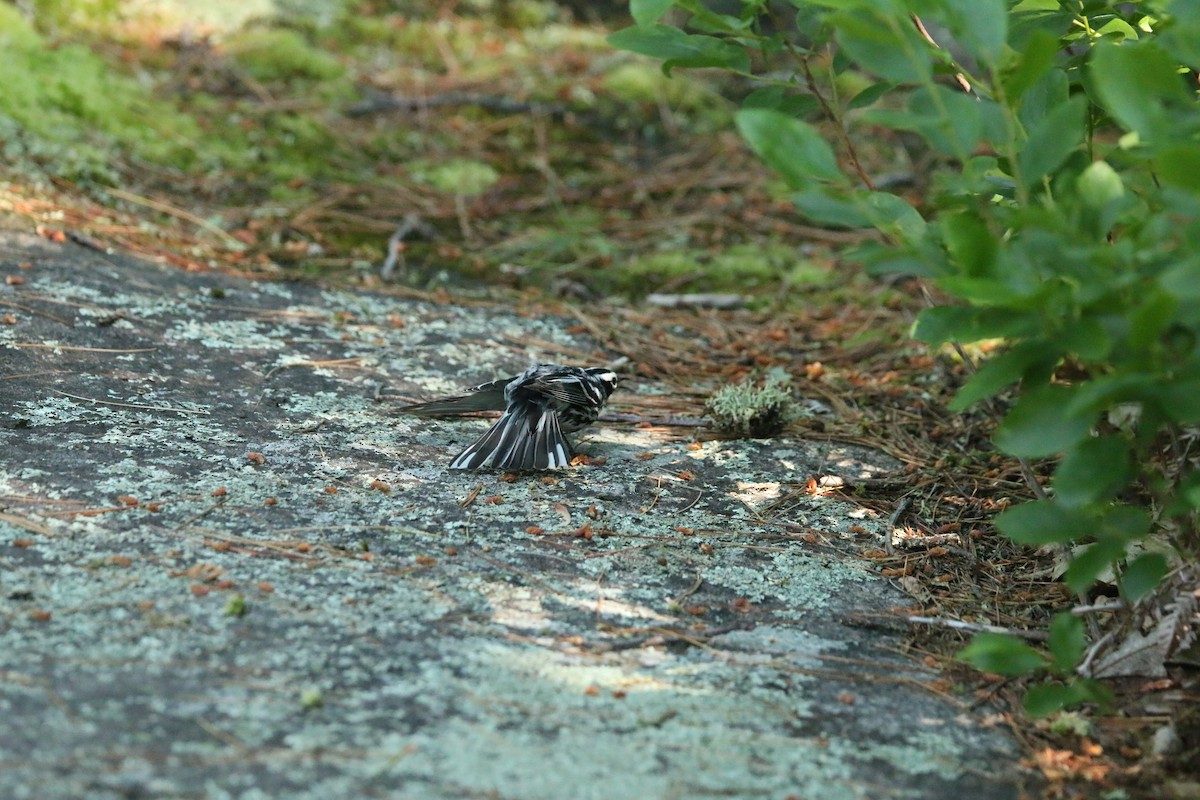
[(533, 403), (517, 403), (455, 456), (450, 469), (554, 469), (570, 464), (574, 455), (558, 414)]

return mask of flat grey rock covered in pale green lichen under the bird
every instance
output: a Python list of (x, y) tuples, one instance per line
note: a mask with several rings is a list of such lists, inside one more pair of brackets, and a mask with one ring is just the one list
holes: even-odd
[(844, 621), (906, 604), (830, 546), (883, 521), (781, 486), (886, 457), (601, 422), (602, 465), (451, 473), (486, 421), (380, 387), (602, 354), (23, 234), (0, 272), (0, 796), (1019, 796), (1006, 733)]

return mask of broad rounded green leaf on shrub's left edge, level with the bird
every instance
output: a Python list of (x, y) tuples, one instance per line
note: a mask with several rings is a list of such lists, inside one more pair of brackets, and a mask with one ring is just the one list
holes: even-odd
[(1016, 402), (996, 428), (996, 446), (1024, 458), (1066, 452), (1092, 429), (1094, 414), (1070, 414), (1073, 392), (1066, 386), (1038, 386)]

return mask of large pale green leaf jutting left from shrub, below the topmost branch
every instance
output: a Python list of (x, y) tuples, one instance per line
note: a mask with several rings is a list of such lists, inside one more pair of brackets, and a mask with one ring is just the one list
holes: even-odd
[(769, 108), (744, 108), (734, 121), (750, 149), (791, 188), (816, 181), (848, 185), (833, 150), (816, 128)]

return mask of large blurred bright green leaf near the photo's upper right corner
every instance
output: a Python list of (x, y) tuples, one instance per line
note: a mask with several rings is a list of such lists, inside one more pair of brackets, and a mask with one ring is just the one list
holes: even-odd
[[(1142, 142), (1176, 138), (1172, 110), (1194, 113), (1178, 64), (1153, 42), (1100, 42), (1088, 61), (1104, 108)], [(1174, 134), (1174, 136), (1172, 136)]]

